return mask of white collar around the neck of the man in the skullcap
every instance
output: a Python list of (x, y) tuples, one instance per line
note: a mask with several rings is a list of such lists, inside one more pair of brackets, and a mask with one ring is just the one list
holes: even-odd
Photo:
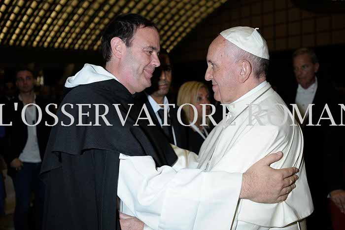
[(255, 88), (247, 92), (246, 94), (244, 94), (242, 97), (240, 97), (233, 103), (226, 105), (226, 107), (233, 115), (238, 115), (256, 97), (258, 97), (265, 90), (268, 90), (270, 87), (271, 87), (271, 84), (265, 80), (264, 82), (262, 82), (261, 84), (259, 84), (258, 86), (256, 86)]

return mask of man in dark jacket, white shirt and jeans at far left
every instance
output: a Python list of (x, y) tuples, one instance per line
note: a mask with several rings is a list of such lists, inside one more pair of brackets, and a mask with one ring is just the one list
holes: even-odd
[[(40, 217), (43, 211), (44, 185), (39, 180), (39, 171), (43, 153), (47, 145), (50, 128), (45, 125), (47, 115), (44, 112), (46, 103), (35, 95), (35, 78), (32, 71), (21, 69), (16, 72), (16, 86), (19, 95), (8, 103), (8, 119), (12, 126), (6, 129), (8, 148), (4, 153), (7, 163), (7, 174), (12, 178), (16, 192), (14, 227), (16, 230), (29, 229), (29, 209), (32, 192), (35, 192), (35, 229), (40, 229)], [(17, 109), (15, 109), (17, 103)], [(38, 108), (42, 111), (39, 121)], [(25, 109), (25, 121), (22, 110)], [(39, 121), (39, 123), (38, 123)], [(37, 125), (35, 125), (38, 123)], [(49, 123), (51, 124), (51, 123)]]

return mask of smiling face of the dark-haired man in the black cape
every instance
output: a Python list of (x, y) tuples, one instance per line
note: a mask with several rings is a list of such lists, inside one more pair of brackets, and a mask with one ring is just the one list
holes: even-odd
[(126, 47), (123, 57), (131, 91), (141, 92), (151, 86), (152, 73), (160, 65), (159, 34), (151, 27), (139, 28), (134, 36), (131, 47)]

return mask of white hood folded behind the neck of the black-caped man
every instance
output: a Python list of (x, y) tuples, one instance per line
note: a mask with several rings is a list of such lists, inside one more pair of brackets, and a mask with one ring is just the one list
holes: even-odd
[(102, 66), (85, 64), (84, 67), (78, 73), (76, 73), (76, 75), (67, 78), (65, 87), (72, 88), (82, 84), (90, 84), (110, 79), (119, 81)]

